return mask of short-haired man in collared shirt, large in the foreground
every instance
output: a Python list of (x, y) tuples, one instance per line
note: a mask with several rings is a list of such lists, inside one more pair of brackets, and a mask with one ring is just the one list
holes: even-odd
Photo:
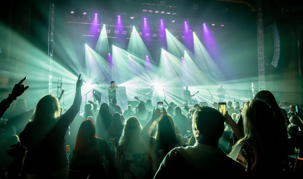
[(171, 150), (162, 161), (154, 178), (187, 178), (193, 176), (219, 178), (232, 175), (246, 178), (245, 168), (226, 156), (218, 141), (224, 131), (224, 117), (219, 111), (203, 106), (197, 107), (192, 119), (194, 146)]

